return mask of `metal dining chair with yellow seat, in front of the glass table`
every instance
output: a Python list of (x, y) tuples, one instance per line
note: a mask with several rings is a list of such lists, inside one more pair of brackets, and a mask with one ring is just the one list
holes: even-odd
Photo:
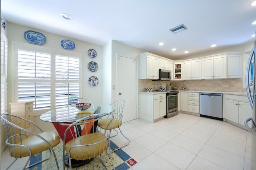
[[(65, 144), (66, 135), (69, 131), (71, 131), (72, 129), (77, 129), (76, 126), (84, 126), (85, 131), (87, 132), (87, 123), (92, 123), (92, 129), (94, 129), (94, 126), (97, 126), (97, 121), (102, 119), (102, 117), (104, 117), (104, 119), (107, 121), (102, 121), (102, 123), (105, 123), (110, 131), (99, 129), (97, 131), (90, 131), (90, 133), (86, 133), (84, 135), (76, 133), (76, 135), (72, 135), (72, 140), (68, 141)], [(107, 152), (107, 149), (109, 149), (110, 151), (110, 123), (113, 121), (113, 119), (114, 116), (111, 113), (96, 113), (83, 117), (69, 125), (64, 133), (63, 141), (63, 158), (65, 158), (65, 155), (68, 154), (68, 162), (66, 162), (65, 159), (63, 160), (63, 169), (65, 169), (65, 166), (68, 165), (70, 167), (70, 170), (72, 169), (72, 167), (76, 167), (72, 166), (72, 159), (74, 159), (75, 162), (79, 160), (86, 161), (92, 160), (96, 156), (99, 156), (101, 162), (108, 169), (106, 163), (102, 160), (101, 155), (104, 151)], [(109, 154), (109, 156), (112, 163), (112, 168), (114, 168), (112, 155)]]

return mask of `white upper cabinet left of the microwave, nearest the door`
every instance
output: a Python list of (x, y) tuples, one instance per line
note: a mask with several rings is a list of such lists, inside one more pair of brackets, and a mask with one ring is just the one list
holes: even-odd
[(143, 53), (140, 59), (140, 79), (158, 79), (159, 59), (149, 53)]

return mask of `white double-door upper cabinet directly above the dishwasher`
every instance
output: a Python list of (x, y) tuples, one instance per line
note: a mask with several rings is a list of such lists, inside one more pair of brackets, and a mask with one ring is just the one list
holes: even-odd
[(202, 79), (227, 78), (227, 57), (219, 55), (202, 59)]

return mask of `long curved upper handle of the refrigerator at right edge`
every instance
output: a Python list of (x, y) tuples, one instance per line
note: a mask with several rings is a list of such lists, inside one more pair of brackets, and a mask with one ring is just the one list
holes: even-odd
[[(251, 66), (251, 62), (254, 56), (254, 62), (255, 62), (255, 46), (252, 47), (252, 51), (250, 53), (249, 59), (248, 59), (248, 63), (247, 63), (247, 68), (246, 68), (246, 91), (247, 91), (247, 96), (250, 102), (251, 107), (253, 108), (254, 106), (254, 102), (255, 102), (255, 76), (253, 77), (253, 82), (254, 82), (254, 87), (253, 87), (253, 97), (251, 96), (250, 93), (250, 85), (249, 85), (249, 81), (250, 81), (250, 66)], [(254, 72), (255, 70), (255, 63), (254, 63)]]

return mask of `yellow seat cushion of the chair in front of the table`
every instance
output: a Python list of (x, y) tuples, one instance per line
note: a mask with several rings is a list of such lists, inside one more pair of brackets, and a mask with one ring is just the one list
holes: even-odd
[[(68, 141), (65, 145), (66, 152), (75, 145), (87, 145), (92, 143), (97, 143), (101, 140), (106, 138), (103, 133), (96, 132), (96, 133), (89, 133), (87, 135), (82, 135), (71, 141)], [(86, 147), (76, 147), (70, 149), (70, 157), (76, 160), (86, 160), (90, 158), (94, 158), (101, 154), (106, 148), (108, 147), (108, 140), (104, 140), (101, 143), (96, 145), (90, 145)]]

